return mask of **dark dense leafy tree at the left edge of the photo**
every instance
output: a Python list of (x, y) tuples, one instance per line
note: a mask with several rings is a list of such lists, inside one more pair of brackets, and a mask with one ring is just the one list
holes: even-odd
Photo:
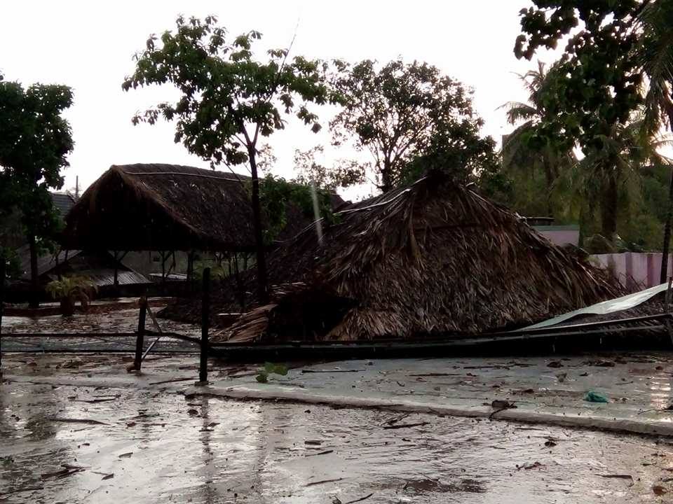
[(38, 306), (38, 254), (53, 249), (60, 227), (49, 189), (63, 186), (60, 171), (69, 166), (72, 133), (61, 114), (71, 104), (67, 86), (24, 89), (0, 75), (0, 217), (20, 212), (30, 250), (31, 307)]

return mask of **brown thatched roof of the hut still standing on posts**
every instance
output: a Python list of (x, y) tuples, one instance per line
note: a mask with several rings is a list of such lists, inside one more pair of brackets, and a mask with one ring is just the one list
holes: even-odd
[[(179, 165), (113, 165), (66, 218), (64, 248), (252, 251), (247, 176)], [(290, 215), (290, 214), (289, 214)], [(279, 239), (310, 222), (292, 213)]]

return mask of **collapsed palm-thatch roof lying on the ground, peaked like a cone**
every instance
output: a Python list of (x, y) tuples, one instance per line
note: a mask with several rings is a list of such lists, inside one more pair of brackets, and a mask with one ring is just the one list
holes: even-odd
[(521, 326), (623, 293), (603, 269), (441, 172), (338, 216), (322, 244), (309, 226), (270, 255), (273, 302), (219, 339), (445, 337)]

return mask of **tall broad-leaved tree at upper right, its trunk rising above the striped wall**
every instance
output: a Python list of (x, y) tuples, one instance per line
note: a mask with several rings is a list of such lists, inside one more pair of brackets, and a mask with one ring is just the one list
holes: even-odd
[[(555, 48), (569, 36), (564, 55), (555, 64), (555, 78), (541, 92), (547, 114), (529, 141), (553, 142), (559, 148), (578, 144), (599, 162), (602, 232), (616, 236), (616, 193), (620, 160), (606, 145), (642, 102), (634, 48), (637, 18), (645, 2), (635, 0), (534, 0), (536, 8), (521, 11), (523, 33), (515, 55), (530, 59), (536, 49)], [(577, 28), (583, 24), (583, 28)], [(573, 31), (574, 30), (574, 31)], [(571, 33), (572, 32), (572, 33)]]

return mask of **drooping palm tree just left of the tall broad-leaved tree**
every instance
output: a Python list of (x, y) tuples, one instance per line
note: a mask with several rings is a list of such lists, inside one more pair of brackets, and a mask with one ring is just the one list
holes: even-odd
[(508, 102), (501, 106), (507, 109), (508, 123), (517, 126), (511, 134), (503, 138), (503, 169), (510, 174), (523, 174), (527, 179), (543, 174), (546, 211), (549, 216), (553, 216), (554, 183), (562, 172), (575, 164), (576, 158), (571, 150), (559, 151), (550, 142), (539, 148), (533, 148), (529, 144), (528, 139), (546, 113), (541, 94), (548, 75), (545, 64), (540, 61), (537, 69), (523, 75), (517, 73), (529, 92), (528, 102)]

